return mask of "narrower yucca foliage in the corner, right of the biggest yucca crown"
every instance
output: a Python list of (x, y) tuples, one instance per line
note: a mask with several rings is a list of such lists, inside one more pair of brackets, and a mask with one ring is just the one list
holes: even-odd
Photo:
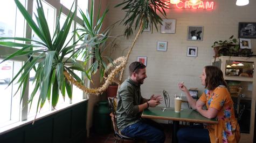
[[(82, 19), (84, 21), (84, 27), (77, 29), (77, 34), (82, 33), (81, 35), (78, 34), (81, 40), (90, 41), (97, 37), (93, 41), (97, 44), (94, 44), (92, 47), (80, 49), (76, 57), (78, 55), (82, 55), (84, 57), (84, 64), (88, 64), (89, 59), (93, 59), (93, 63), (87, 69), (87, 73), (89, 76), (95, 74), (98, 69), (100, 70), (100, 78), (102, 80), (104, 70), (107, 68), (106, 62), (113, 63), (112, 59), (108, 56), (103, 56), (102, 52), (107, 48), (106, 42), (109, 39), (109, 32), (113, 25), (109, 26), (105, 30), (102, 30), (103, 20), (108, 12), (108, 9), (103, 11), (102, 15), (100, 16), (101, 4), (98, 7), (98, 13), (96, 14), (96, 18), (94, 18), (94, 1), (91, 3), (91, 11), (84, 13), (79, 9), (81, 13)], [(94, 19), (96, 22), (94, 23)], [(105, 61), (104, 61), (105, 60)]]

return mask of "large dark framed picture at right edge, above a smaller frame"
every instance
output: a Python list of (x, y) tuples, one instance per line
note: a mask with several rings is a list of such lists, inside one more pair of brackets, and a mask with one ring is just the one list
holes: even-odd
[(256, 39), (256, 22), (239, 22), (238, 37)]

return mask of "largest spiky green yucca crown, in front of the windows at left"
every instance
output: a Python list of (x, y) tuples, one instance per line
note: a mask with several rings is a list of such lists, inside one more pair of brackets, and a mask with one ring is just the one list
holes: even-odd
[[(73, 13), (68, 13), (62, 27), (60, 27), (59, 23), (60, 10), (59, 17), (57, 18), (57, 25), (53, 37), (51, 37), (40, 0), (37, 0), (37, 15), (35, 14), (36, 22), (33, 21), (30, 14), (18, 0), (15, 0), (15, 3), (19, 11), (23, 14), (26, 22), (39, 37), (39, 40), (26, 39), (23, 37), (0, 37), (0, 44), (2, 46), (20, 47), (19, 50), (6, 57), (2, 62), (16, 56), (29, 56), (16, 76), (11, 80), (10, 84), (20, 75), (20, 78), (17, 79), (19, 83), (18, 90), (21, 89), (22, 96), (24, 96), (24, 91), (27, 82), (29, 81), (29, 73), (31, 70), (35, 70), (35, 87), (29, 97), (29, 102), (33, 101), (34, 95), (39, 91), (40, 96), (37, 111), (39, 107), (42, 108), (44, 106), (46, 100), (50, 101), (50, 99), (52, 101), (52, 106), (56, 107), (60, 92), (63, 97), (65, 97), (65, 91), (67, 91), (68, 97), (72, 98), (71, 85), (70, 82), (64, 78), (64, 71), (70, 73), (78, 82), (82, 82), (82, 80), (72, 70), (82, 71), (87, 75), (82, 64), (72, 58), (80, 49), (85, 48), (85, 44), (79, 46), (77, 42), (80, 39), (78, 39), (78, 41), (72, 43), (71, 46), (68, 46), (70, 41), (72, 41), (74, 34), (71, 39), (67, 39), (67, 35), (70, 31), (72, 20), (77, 9), (75, 8)], [(91, 37), (89, 40), (86, 39), (86, 45), (92, 47), (94, 44), (100, 43), (100, 41), (98, 41), (98, 43), (94, 42), (96, 38), (97, 37), (95, 36)], [(23, 41), (26, 43), (10, 42), (8, 40)], [(68, 41), (68, 43), (65, 43), (65, 41)], [(76, 48), (78, 46), (79, 48)], [(68, 54), (70, 54), (70, 56), (68, 56)], [(90, 79), (90, 76), (87, 75), (87, 78)]]

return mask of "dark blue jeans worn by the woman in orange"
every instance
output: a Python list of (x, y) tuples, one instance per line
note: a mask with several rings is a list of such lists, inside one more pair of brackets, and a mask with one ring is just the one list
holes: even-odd
[(179, 129), (177, 132), (179, 143), (210, 143), (209, 131), (203, 129), (203, 125), (194, 125), (188, 128)]

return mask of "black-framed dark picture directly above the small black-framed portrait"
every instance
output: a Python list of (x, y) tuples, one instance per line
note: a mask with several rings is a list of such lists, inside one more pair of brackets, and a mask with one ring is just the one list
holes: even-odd
[(203, 41), (203, 26), (189, 26), (188, 40)]

